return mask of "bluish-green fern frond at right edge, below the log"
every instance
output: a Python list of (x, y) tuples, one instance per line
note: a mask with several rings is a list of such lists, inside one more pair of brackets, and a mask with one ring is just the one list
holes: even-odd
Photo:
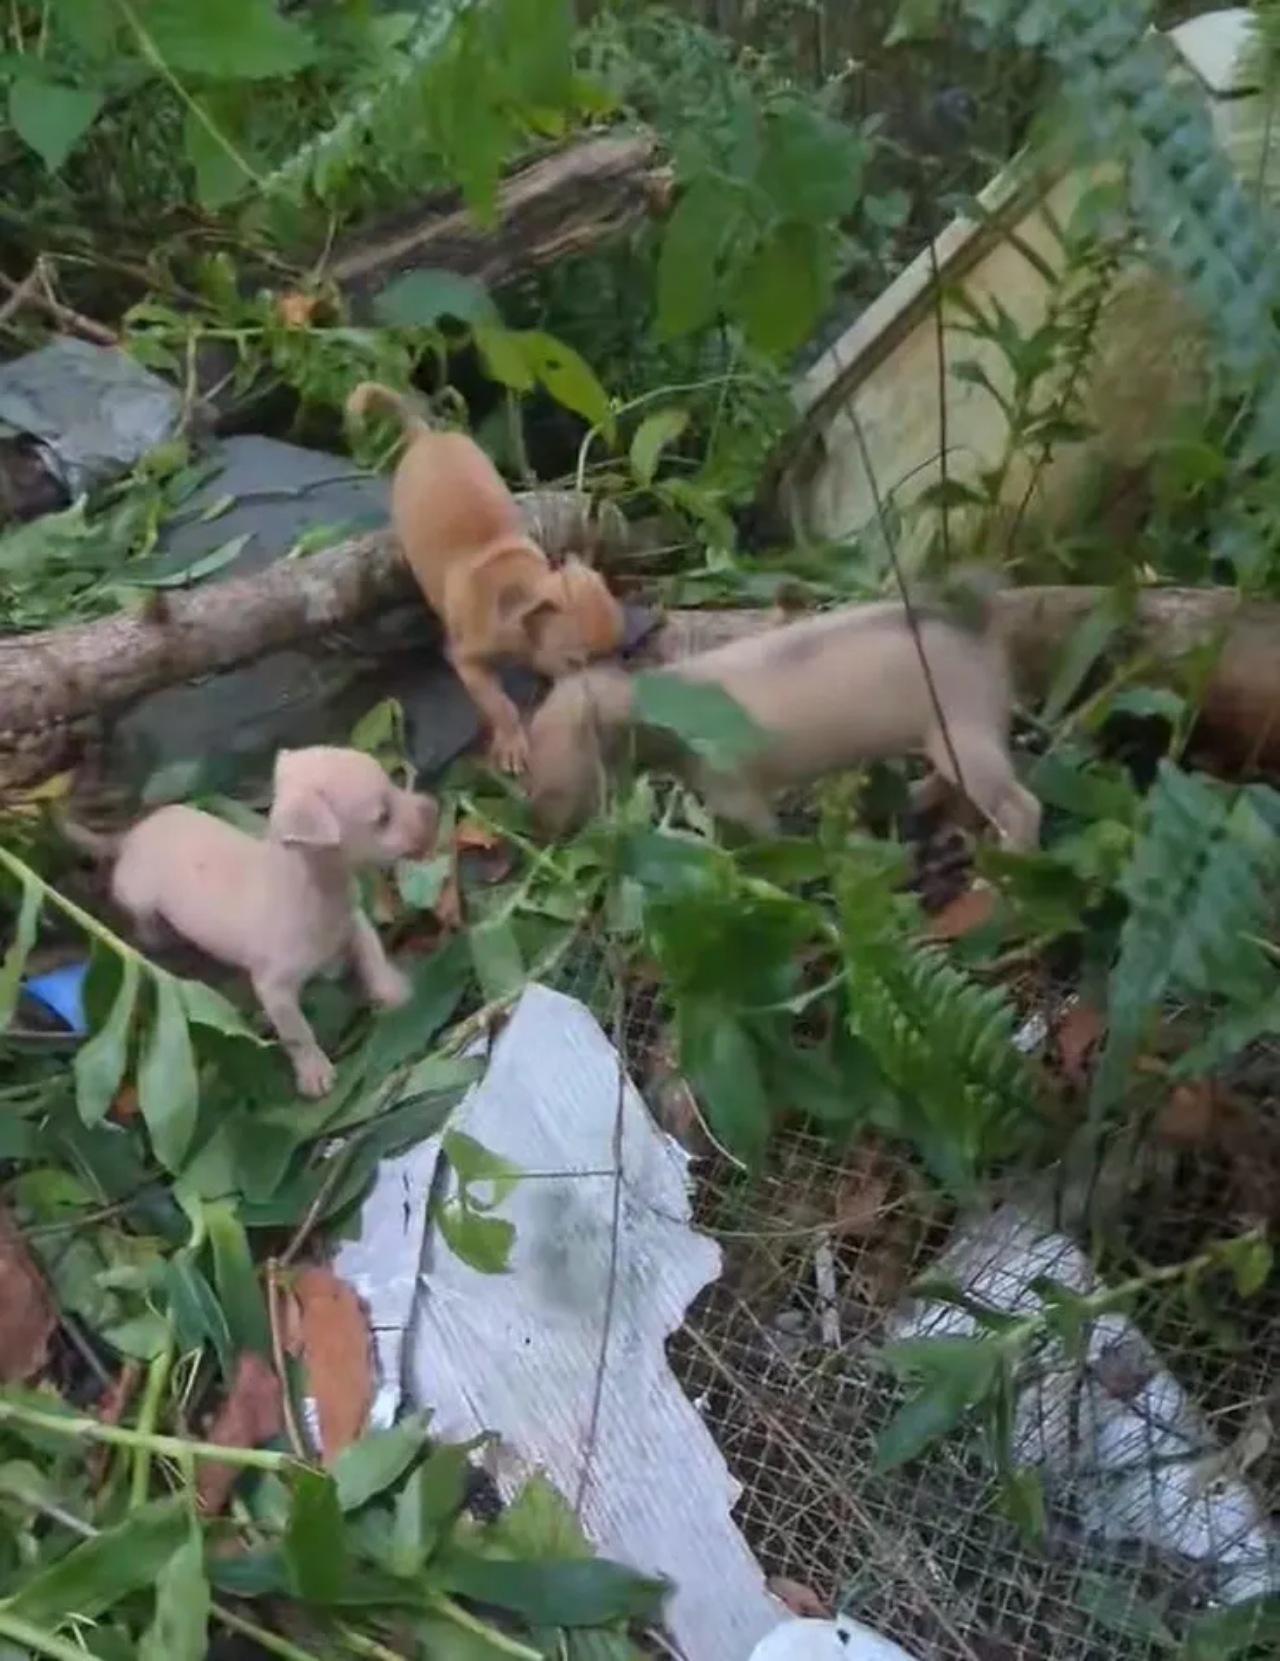
[(1234, 1030), (1275, 995), (1275, 970), (1253, 938), (1280, 875), (1280, 796), (1265, 786), (1235, 794), (1165, 761), (1146, 822), (1121, 879), (1129, 917), (1111, 972), (1107, 1041), (1094, 1075), (1092, 1111), (1119, 1100), (1160, 1002), (1227, 998)]

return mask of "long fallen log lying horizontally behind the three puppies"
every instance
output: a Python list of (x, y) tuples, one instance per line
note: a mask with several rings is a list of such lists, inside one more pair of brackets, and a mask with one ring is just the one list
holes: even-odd
[[(621, 518), (594, 518), (571, 493), (533, 492), (521, 512), (553, 555), (591, 546), (609, 565), (633, 535)], [(256, 576), (171, 593), (161, 615), (121, 613), (75, 628), (0, 641), (0, 781), (30, 782), (63, 761), (43, 754), (51, 734), (111, 714), (148, 693), (249, 663), (350, 628), (412, 600), (413, 583), (388, 533), (360, 537)], [(998, 600), (1019, 689), (1043, 693), (1072, 630), (1101, 588), (1023, 588)], [(672, 663), (777, 626), (765, 610), (672, 611), (649, 646)], [(1280, 605), (1232, 590), (1157, 588), (1134, 606), (1129, 643), (1157, 674), (1190, 653), (1217, 651), (1202, 716), (1234, 759), (1280, 766)], [(56, 747), (56, 746), (55, 746)]]

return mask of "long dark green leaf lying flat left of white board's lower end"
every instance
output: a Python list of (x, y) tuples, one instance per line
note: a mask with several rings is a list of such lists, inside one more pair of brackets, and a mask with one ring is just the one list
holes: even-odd
[(654, 1619), (667, 1593), (666, 1581), (649, 1580), (608, 1558), (501, 1563), (450, 1551), (440, 1573), (445, 1590), (510, 1610), (530, 1626)]

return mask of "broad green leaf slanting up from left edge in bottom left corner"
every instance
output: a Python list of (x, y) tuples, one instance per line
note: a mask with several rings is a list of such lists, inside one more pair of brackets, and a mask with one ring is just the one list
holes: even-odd
[(81, 1621), (96, 1621), (121, 1598), (154, 1586), (189, 1531), (186, 1498), (134, 1507), (123, 1523), (38, 1570), (5, 1608), (32, 1623), (63, 1621), (71, 1610)]

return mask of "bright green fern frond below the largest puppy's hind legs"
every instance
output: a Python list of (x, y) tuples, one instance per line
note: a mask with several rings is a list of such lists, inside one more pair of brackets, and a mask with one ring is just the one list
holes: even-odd
[(875, 880), (840, 882), (848, 1025), (900, 1100), (900, 1129), (933, 1174), (966, 1188), (1036, 1115), (1031, 1071), (1013, 1045), (1016, 1010), (935, 945)]

